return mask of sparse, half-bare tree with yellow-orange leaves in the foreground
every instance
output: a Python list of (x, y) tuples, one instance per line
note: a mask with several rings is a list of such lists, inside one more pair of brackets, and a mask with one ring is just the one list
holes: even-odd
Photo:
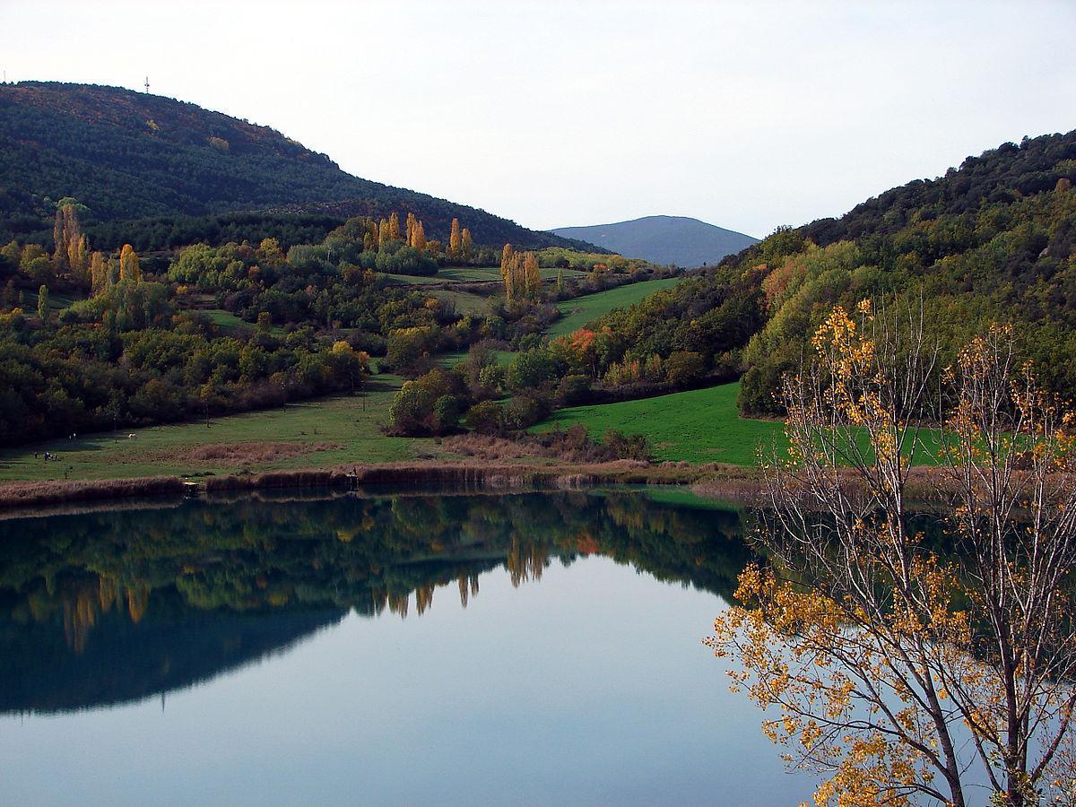
[[(1010, 328), (939, 373), (906, 313), (835, 309), (785, 378), (790, 449), (766, 466), (756, 537), (768, 563), (740, 576), (741, 605), (707, 641), (773, 710), (785, 760), (825, 774), (819, 805), (981, 803), (973, 782), (995, 804), (1071, 804), (1076, 420)], [(935, 404), (945, 428), (926, 440)], [(909, 526), (928, 454), (945, 554)]]

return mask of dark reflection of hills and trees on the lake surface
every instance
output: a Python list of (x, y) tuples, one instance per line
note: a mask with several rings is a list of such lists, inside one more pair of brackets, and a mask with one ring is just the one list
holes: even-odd
[[(192, 686), (349, 612), (464, 606), (600, 554), (728, 598), (748, 560), (733, 509), (637, 492), (188, 500), (0, 522), (0, 712)], [(440, 593), (440, 596), (445, 596)]]

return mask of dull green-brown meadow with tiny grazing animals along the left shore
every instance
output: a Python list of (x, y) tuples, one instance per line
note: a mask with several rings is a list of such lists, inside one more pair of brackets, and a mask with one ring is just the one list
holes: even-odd
[[(203, 422), (125, 428), (118, 439), (101, 434), (6, 450), (0, 452), (0, 480), (63, 479), (65, 471), (70, 479), (107, 479), (410, 459), (431, 448), (433, 442), (387, 437), (380, 430), (388, 420), (388, 407), (399, 385), (397, 377), (376, 376), (362, 396), (335, 396), (289, 404), (283, 409), (214, 417), (209, 428)], [(137, 434), (137, 439), (126, 439), (128, 433)], [(259, 443), (278, 450), (282, 445), (292, 448), (296, 453), (287, 455), (284, 451), (284, 456), (258, 459)], [(209, 450), (195, 451), (207, 445)], [(34, 459), (36, 451), (49, 451), (60, 458), (47, 463)]]

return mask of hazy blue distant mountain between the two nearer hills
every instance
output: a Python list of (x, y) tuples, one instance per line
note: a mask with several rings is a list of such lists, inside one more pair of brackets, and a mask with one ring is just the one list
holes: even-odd
[(684, 216), (645, 216), (631, 222), (558, 227), (550, 231), (619, 252), (627, 258), (689, 268), (716, 264), (725, 255), (759, 243), (759, 239), (742, 232)]

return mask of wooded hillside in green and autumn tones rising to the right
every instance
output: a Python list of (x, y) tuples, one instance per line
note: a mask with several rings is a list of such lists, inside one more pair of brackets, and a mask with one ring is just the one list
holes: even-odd
[[(1076, 397), (1076, 131), (1006, 143), (840, 218), (781, 228), (704, 275), (607, 315), (608, 363), (690, 351), (746, 371), (740, 407), (775, 412), (834, 305), (872, 297), (926, 309), (948, 360), (1010, 323), (1045, 383)], [(598, 371), (604, 371), (599, 367)]]

